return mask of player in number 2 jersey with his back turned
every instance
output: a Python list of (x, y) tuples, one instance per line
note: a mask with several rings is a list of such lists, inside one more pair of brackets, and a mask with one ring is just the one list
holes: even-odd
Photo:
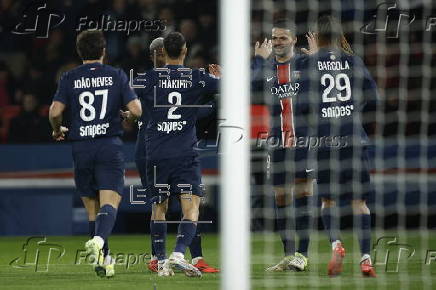
[[(187, 276), (201, 272), (184, 259), (196, 234), (201, 173), (195, 123), (202, 96), (218, 90), (218, 80), (201, 70), (183, 66), (187, 48), (182, 34), (171, 32), (164, 38), (165, 66), (147, 72), (145, 88), (137, 93), (147, 110), (145, 128), (147, 190), (153, 195), (151, 235), (158, 258), (159, 276), (171, 276), (173, 269)], [(216, 69), (216, 68), (215, 68)], [(183, 212), (174, 252), (165, 255), (167, 198), (178, 194)]]

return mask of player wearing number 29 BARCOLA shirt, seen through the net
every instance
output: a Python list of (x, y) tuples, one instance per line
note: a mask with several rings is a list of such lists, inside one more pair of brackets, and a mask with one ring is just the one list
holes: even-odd
[[(360, 268), (375, 277), (371, 264), (371, 216), (366, 200), (372, 191), (368, 170), (368, 137), (361, 112), (378, 98), (376, 84), (363, 61), (352, 54), (340, 23), (331, 16), (317, 22), (319, 51), (307, 60), (301, 72), (300, 96), (296, 102), (297, 122), (305, 118), (317, 139), (317, 183), (322, 200), (321, 215), (332, 245), (328, 275), (342, 272), (345, 256), (339, 235), (339, 200), (350, 201), (357, 226)], [(313, 37), (313, 35), (311, 36)], [(303, 122), (303, 121), (302, 121)]]

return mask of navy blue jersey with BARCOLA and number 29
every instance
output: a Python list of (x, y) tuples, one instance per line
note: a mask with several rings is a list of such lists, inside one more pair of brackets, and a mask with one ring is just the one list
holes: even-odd
[[(363, 61), (341, 50), (320, 49), (301, 71), (298, 119), (311, 124), (316, 147), (360, 146), (368, 142), (361, 112), (378, 99), (376, 84)], [(323, 141), (324, 140), (324, 141)]]

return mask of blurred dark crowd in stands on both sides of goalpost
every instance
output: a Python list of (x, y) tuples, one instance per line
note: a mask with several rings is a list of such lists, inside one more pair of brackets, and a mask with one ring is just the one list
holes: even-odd
[[(47, 0), (42, 2), (47, 3), (50, 12), (65, 14), (63, 23), (53, 27), (47, 38), (10, 33), (23, 21), (25, 13), (32, 13), (32, 7), (26, 3), (38, 2), (41, 1), (0, 0), (0, 143), (50, 140), (47, 106), (60, 74), (80, 64), (75, 51), (80, 18), (98, 20), (104, 14), (117, 20), (162, 21), (163, 30), (105, 33), (105, 62), (127, 73), (130, 69), (135, 72), (150, 69), (148, 45), (154, 38), (174, 30), (182, 32), (187, 40), (187, 66), (206, 67), (218, 62), (217, 0)], [(296, 1), (301, 7), (309, 2)], [(275, 3), (274, 9), (265, 3)], [(311, 9), (299, 6), (299, 12), (294, 13), (291, 4), (279, 3), (279, 0), (252, 1), (252, 43), (270, 36), (273, 19), (295, 15), (297, 46), (306, 46), (304, 33)], [(345, 0), (341, 3), (344, 7), (348, 5)], [(367, 9), (377, 3), (368, 0), (365, 5)], [(342, 12), (346, 36), (364, 59), (382, 96), (378, 114), (368, 114), (366, 118), (369, 132), (389, 137), (436, 135), (436, 115), (432, 114), (436, 99), (431, 97), (436, 91), (436, 75), (432, 70), (436, 65), (436, 46), (431, 45), (436, 42), (434, 33), (428, 37), (424, 30), (411, 30), (397, 39), (363, 35), (356, 32), (363, 21), (360, 24), (353, 21), (356, 15), (351, 8)], [(417, 6), (413, 12), (422, 18), (424, 9)], [(436, 10), (431, 13), (436, 15)], [(363, 15), (364, 21), (371, 20), (371, 13)], [(262, 94), (253, 95), (252, 103), (264, 104)], [(126, 138), (134, 136), (134, 129), (130, 128)]]

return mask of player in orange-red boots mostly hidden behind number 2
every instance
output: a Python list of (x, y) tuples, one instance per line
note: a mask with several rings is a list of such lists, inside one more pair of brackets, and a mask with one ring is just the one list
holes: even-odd
[[(165, 56), (163, 53), (163, 38), (158, 37), (154, 39), (150, 44), (150, 58), (153, 61), (154, 67), (164, 67), (165, 66)], [(202, 115), (207, 115), (210, 113), (210, 108), (200, 108), (199, 117)], [(143, 188), (147, 188), (147, 171), (146, 171), (146, 147), (145, 147), (145, 127), (148, 122), (147, 111), (141, 116), (141, 120), (138, 122), (138, 137), (136, 140), (135, 147), (135, 163), (138, 169), (139, 175), (141, 177), (141, 183)], [(168, 206), (168, 200), (165, 201), (165, 206)], [(165, 210), (166, 211), (166, 210)], [(150, 233), (153, 228), (153, 219), (150, 220)], [(201, 233), (200, 227), (197, 226), (197, 232), (189, 245), (189, 250), (191, 252), (192, 264), (203, 273), (217, 273), (218, 269), (209, 266), (203, 258), (203, 251), (201, 247)], [(152, 272), (157, 272), (158, 270), (158, 259), (156, 257), (156, 252), (151, 244), (151, 259), (148, 263), (148, 269)]]

